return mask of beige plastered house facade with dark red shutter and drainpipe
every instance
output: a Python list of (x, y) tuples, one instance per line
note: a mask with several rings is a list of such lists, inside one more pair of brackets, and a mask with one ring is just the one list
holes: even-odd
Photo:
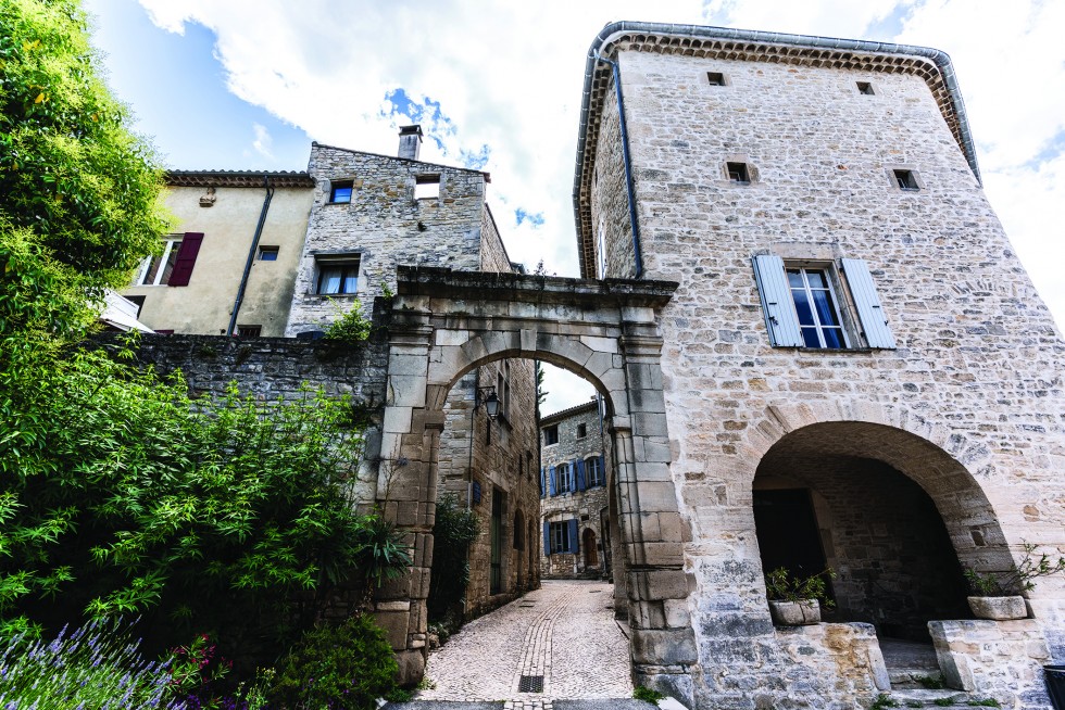
[[(172, 170), (177, 220), (122, 295), (156, 332), (285, 334), (314, 182), (306, 173)], [(237, 318), (233, 318), (234, 309)]]

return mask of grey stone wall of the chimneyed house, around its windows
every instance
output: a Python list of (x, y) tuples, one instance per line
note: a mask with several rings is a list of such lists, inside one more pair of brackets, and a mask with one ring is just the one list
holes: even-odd
[[(358, 297), (368, 313), (375, 296), (396, 289), (400, 264), (477, 270), (481, 263), (485, 174), (388, 155), (311, 145), (315, 180), (306, 242), (296, 277), (287, 335), (320, 329)], [(440, 194), (414, 199), (418, 176), (440, 177)], [(330, 185), (350, 180), (350, 203), (330, 203)], [(315, 257), (360, 259), (358, 293), (315, 294)]]

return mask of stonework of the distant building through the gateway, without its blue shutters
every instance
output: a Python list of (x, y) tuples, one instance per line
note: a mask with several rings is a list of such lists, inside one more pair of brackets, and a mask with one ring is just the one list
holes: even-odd
[[(547, 444), (543, 430), (553, 427), (559, 432), (555, 444)], [(585, 435), (579, 435), (578, 428), (584, 427)], [(605, 576), (610, 573), (610, 512), (607, 505), (607, 489), (605, 485), (606, 471), (610, 470), (610, 457), (603, 446), (603, 421), (599, 414), (598, 401), (578, 405), (563, 411), (543, 417), (540, 420), (540, 461), (543, 469), (542, 497), (540, 499), (540, 524), (538, 528), (542, 551), (540, 570), (544, 576), (551, 578), (587, 578)], [(551, 495), (548, 476), (556, 471), (562, 464), (573, 465), (577, 460), (591, 457), (604, 457), (604, 485), (592, 486), (586, 479), (584, 491), (568, 491)], [(586, 473), (587, 477), (587, 473)], [(575, 479), (576, 480), (576, 479)], [(543, 524), (565, 522), (576, 519), (577, 551), (550, 553), (544, 548)], [(591, 535), (591, 537), (589, 537)], [(589, 555), (586, 542), (593, 540), (594, 553)], [(591, 561), (592, 563), (588, 563)]]

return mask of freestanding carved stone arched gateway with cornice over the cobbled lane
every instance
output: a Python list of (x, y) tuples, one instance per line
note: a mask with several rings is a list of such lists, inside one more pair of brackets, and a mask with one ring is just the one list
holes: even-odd
[(403, 682), (425, 669), (436, 461), (448, 391), (502, 358), (535, 358), (586, 378), (606, 402), (635, 681), (687, 688), (696, 662), (681, 519), (669, 444), (656, 312), (677, 284), (400, 267), (389, 326), (377, 498), (408, 535), (414, 566), (380, 591), (376, 614)]

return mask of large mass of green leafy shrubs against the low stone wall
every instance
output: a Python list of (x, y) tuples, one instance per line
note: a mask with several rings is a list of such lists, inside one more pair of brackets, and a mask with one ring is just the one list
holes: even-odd
[[(347, 400), (192, 401), (103, 353), (54, 364), (47, 422), (12, 452), (0, 422), (0, 619), (149, 610), (167, 646), (195, 629), (238, 644), (293, 596), (315, 600), (358, 569), (379, 585), (410, 563), (378, 516), (356, 515), (362, 452)], [(10, 440), (7, 440), (10, 441)], [(317, 594), (318, 596), (315, 596)], [(305, 623), (305, 620), (303, 620)]]

